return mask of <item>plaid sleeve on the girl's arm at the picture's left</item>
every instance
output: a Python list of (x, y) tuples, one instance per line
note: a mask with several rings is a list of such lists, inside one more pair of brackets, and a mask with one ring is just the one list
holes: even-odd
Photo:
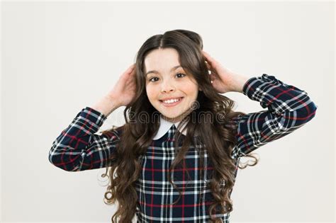
[(106, 118), (93, 108), (83, 108), (52, 142), (50, 163), (65, 171), (108, 166), (109, 157), (116, 151), (120, 133), (113, 129), (108, 134), (96, 134)]

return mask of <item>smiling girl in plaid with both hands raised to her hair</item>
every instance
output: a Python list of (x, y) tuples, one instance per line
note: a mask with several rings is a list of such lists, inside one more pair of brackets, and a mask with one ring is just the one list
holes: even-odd
[[(236, 91), (257, 113), (233, 111)], [(96, 134), (125, 106), (125, 125)], [(112, 222), (229, 222), (238, 168), (251, 151), (302, 127), (317, 106), (306, 91), (262, 74), (248, 78), (203, 51), (189, 30), (154, 35), (135, 64), (95, 105), (83, 108), (52, 143), (49, 161), (65, 171), (106, 168)], [(240, 158), (254, 164), (240, 166)]]

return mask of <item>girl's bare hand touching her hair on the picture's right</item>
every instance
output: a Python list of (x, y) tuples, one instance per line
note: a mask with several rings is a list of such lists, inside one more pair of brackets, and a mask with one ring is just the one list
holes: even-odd
[(235, 91), (235, 74), (230, 69), (223, 67), (218, 61), (213, 59), (207, 52), (203, 51), (203, 56), (206, 57), (206, 65), (211, 70), (211, 83), (218, 93), (226, 93)]

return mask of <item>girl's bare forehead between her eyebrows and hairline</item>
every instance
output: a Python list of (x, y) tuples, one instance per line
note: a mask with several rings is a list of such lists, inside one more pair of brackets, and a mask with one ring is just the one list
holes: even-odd
[(152, 50), (144, 59), (145, 71), (170, 70), (179, 65), (179, 53), (173, 48)]

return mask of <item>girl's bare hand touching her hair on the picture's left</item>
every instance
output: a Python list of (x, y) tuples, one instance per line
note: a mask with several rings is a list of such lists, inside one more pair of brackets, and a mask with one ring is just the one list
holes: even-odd
[(132, 64), (119, 77), (113, 89), (108, 92), (107, 97), (116, 101), (120, 106), (128, 105), (135, 96), (135, 64)]

